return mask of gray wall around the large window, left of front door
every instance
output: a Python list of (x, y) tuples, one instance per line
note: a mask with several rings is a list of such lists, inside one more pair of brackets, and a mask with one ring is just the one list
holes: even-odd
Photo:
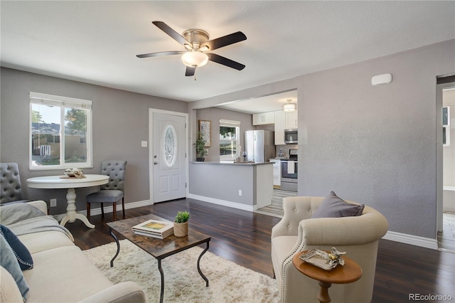
[[(66, 191), (26, 186), (33, 176), (63, 174), (28, 169), (31, 91), (92, 100), (94, 167), (84, 169), (85, 174), (99, 174), (104, 159), (127, 160), (125, 203), (149, 200), (149, 149), (141, 147), (149, 138), (149, 108), (187, 112), (186, 102), (1, 68), (0, 161), (18, 162), (24, 198), (58, 199), (51, 214), (65, 213)], [(96, 189), (76, 189), (78, 210), (85, 210), (85, 196)]]

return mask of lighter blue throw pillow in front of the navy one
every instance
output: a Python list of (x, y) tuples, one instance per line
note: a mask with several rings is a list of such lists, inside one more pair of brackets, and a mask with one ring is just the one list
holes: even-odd
[(28, 285), (23, 277), (23, 273), (21, 267), (18, 265), (16, 260), (16, 256), (14, 255), (13, 250), (9, 246), (8, 242), (6, 242), (4, 237), (0, 236), (0, 265), (4, 267), (5, 270), (13, 276), (16, 285), (21, 292), (21, 295), (24, 299), (24, 302), (27, 299), (28, 294)]

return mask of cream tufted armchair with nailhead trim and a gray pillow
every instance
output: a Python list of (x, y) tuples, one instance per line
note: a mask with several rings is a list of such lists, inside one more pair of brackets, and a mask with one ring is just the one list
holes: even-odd
[(363, 270), (357, 282), (333, 284), (328, 289), (332, 302), (370, 302), (378, 240), (387, 233), (387, 220), (368, 206), (360, 216), (311, 218), (323, 199), (309, 196), (283, 199), (284, 217), (272, 228), (272, 264), (282, 302), (317, 301), (318, 282), (297, 271), (292, 257), (302, 250), (331, 250), (332, 247), (346, 252)]

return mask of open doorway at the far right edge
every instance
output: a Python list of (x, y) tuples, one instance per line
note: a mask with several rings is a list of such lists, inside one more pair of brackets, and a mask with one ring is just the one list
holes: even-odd
[(455, 76), (437, 79), (437, 241), (455, 252)]

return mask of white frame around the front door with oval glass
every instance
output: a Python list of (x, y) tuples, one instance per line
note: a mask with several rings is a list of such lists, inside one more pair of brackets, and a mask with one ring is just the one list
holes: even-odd
[(173, 115), (173, 116), (180, 116), (180, 117), (185, 117), (185, 154), (186, 154), (186, 161), (185, 161), (185, 166), (186, 166), (186, 197), (188, 197), (188, 193), (190, 190), (190, 186), (188, 183), (189, 179), (189, 154), (188, 154), (188, 114), (186, 112), (172, 112), (170, 110), (157, 110), (156, 108), (149, 108), (149, 192), (150, 192), (150, 201), (151, 204), (154, 204), (154, 139), (153, 139), (153, 134), (154, 134), (154, 113), (158, 112), (160, 114), (166, 114), (166, 115)]

